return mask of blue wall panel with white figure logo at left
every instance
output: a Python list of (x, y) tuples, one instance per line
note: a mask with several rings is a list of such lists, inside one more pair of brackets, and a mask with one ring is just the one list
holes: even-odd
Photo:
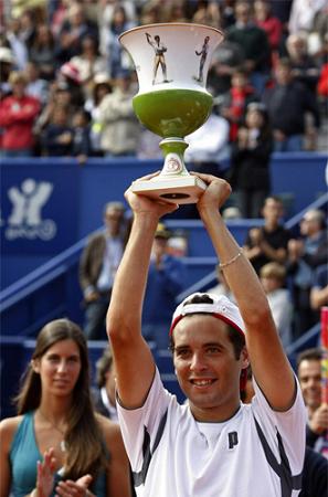
[(2, 254), (55, 254), (75, 243), (77, 187), (75, 165), (6, 168), (1, 178)]

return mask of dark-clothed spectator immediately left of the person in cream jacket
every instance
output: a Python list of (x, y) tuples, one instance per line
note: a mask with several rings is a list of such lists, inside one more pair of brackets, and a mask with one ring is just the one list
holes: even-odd
[(89, 137), (89, 114), (80, 108), (75, 110), (72, 119), (73, 138), (72, 138), (72, 156), (83, 165), (91, 156), (91, 137)]

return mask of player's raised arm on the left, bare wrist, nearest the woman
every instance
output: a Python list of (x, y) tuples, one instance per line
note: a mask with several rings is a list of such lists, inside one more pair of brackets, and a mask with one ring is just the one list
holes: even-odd
[(134, 212), (134, 222), (114, 282), (107, 334), (116, 367), (118, 396), (124, 406), (138, 408), (142, 405), (155, 374), (151, 352), (141, 336), (151, 246), (158, 220), (177, 207), (136, 195), (130, 189), (126, 199)]

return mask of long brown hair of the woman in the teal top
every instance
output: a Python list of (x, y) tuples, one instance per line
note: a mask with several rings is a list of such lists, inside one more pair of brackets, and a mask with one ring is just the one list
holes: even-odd
[[(89, 361), (87, 345), (81, 328), (68, 319), (56, 319), (40, 331), (32, 360), (41, 359), (54, 343), (73, 340), (80, 350), (81, 372), (72, 392), (72, 405), (67, 412), (65, 436), (65, 478), (77, 479), (85, 474), (96, 478), (107, 465), (106, 447), (97, 423), (89, 391)], [(19, 394), (14, 399), (18, 414), (39, 408), (42, 396), (40, 374), (29, 363)]]

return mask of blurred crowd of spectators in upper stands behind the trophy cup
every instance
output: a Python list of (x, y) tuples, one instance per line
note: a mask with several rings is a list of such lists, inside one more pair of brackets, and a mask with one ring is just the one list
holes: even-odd
[(248, 104), (258, 102), (273, 150), (315, 150), (327, 110), (328, 10), (317, 0), (305, 14), (305, 3), (38, 0), (22, 7), (13, 0), (1, 12), (1, 154), (76, 157), (81, 163), (87, 157), (142, 156), (147, 130), (131, 106), (138, 83), (118, 36), (135, 25), (177, 21), (225, 34), (208, 88), (214, 113), (228, 120), (232, 149), (240, 140), (251, 155), (256, 148), (261, 133), (245, 139), (245, 116)]

